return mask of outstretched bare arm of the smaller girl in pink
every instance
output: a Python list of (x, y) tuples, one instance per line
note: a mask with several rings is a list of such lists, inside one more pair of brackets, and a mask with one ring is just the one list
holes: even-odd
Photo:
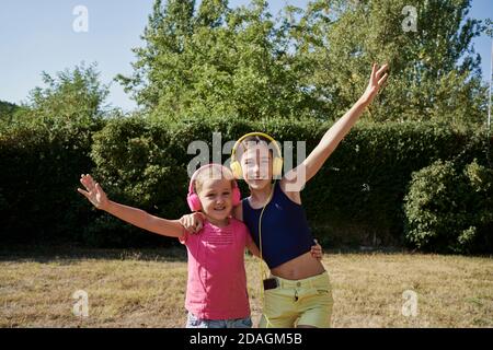
[(87, 190), (78, 188), (77, 190), (85, 196), (89, 201), (100, 210), (104, 210), (112, 215), (131, 223), (140, 229), (170, 237), (181, 237), (184, 229), (179, 220), (167, 220), (149, 214), (148, 212), (119, 205), (107, 199), (106, 194), (100, 184), (95, 183), (91, 175), (82, 175), (81, 184)]

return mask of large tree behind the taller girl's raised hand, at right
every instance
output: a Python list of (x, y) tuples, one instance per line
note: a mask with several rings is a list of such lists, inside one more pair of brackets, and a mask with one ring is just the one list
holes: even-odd
[(467, 18), (470, 7), (469, 0), (333, 1), (330, 7), (317, 0), (294, 38), (310, 48), (298, 52), (316, 67), (308, 80), (318, 97), (339, 114), (360, 94), (370, 63), (386, 61), (390, 79), (369, 109), (370, 119), (480, 122), (485, 85), (472, 38), (485, 26)]

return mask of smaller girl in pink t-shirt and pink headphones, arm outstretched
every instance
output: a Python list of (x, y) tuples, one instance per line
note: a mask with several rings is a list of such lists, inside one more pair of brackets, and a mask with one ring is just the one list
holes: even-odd
[[(98, 209), (150, 232), (177, 237), (186, 245), (187, 328), (252, 327), (244, 248), (255, 256), (259, 249), (246, 226), (232, 218), (232, 209), (240, 203), (241, 195), (228, 168), (209, 164), (192, 176), (187, 202), (193, 211), (205, 215), (200, 234), (188, 234), (179, 220), (161, 219), (107, 199), (91, 175), (82, 175), (81, 184), (85, 190), (79, 188), (79, 192)], [(314, 247), (313, 255), (319, 255)]]

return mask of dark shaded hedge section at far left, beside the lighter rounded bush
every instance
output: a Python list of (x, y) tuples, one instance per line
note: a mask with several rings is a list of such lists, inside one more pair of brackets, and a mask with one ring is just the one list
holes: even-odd
[(80, 174), (94, 166), (89, 153), (95, 130), (24, 126), (0, 131), (2, 244), (82, 238), (90, 210), (76, 189)]

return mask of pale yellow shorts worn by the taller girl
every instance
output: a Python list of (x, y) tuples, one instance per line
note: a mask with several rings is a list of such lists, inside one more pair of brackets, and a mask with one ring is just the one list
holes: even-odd
[(330, 327), (333, 299), (326, 271), (301, 280), (274, 278), (278, 287), (264, 292), (264, 310), (259, 327)]

